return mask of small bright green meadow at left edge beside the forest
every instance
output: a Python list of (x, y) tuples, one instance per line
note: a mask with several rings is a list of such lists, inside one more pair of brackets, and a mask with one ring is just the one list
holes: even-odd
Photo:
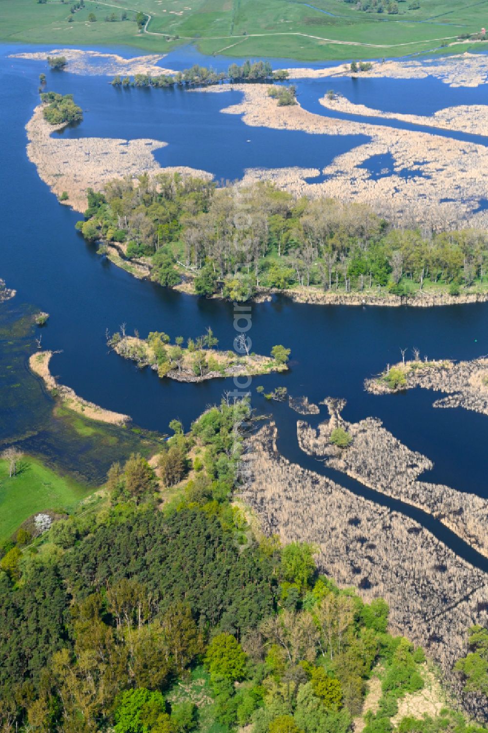
[(73, 509), (93, 489), (59, 476), (39, 460), (25, 456), (16, 476), (9, 478), (7, 461), (0, 460), (0, 542), (21, 523), (45, 509)]

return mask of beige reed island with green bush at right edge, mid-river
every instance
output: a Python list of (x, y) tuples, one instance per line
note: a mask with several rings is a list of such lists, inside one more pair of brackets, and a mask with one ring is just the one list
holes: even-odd
[(366, 379), (371, 394), (391, 394), (413, 387), (445, 392), (435, 408), (458, 408), (488, 415), (488, 358), (473, 361), (451, 359), (421, 361), (418, 353), (411, 361), (388, 364), (377, 377)]

